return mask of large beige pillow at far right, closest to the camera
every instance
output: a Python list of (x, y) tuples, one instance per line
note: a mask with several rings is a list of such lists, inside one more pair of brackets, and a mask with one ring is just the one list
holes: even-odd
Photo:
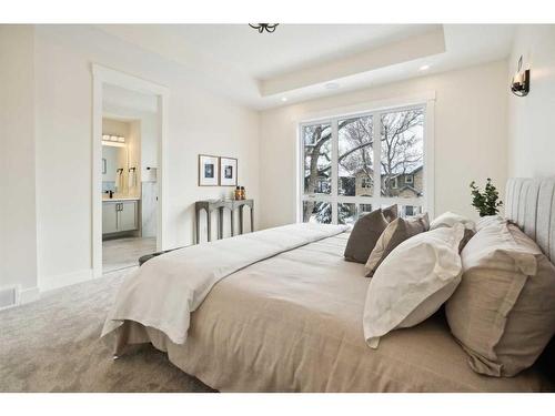
[(517, 226), (495, 221), (462, 253), (463, 278), (447, 301), (451, 332), (476, 372), (514, 376), (555, 333), (555, 266)]

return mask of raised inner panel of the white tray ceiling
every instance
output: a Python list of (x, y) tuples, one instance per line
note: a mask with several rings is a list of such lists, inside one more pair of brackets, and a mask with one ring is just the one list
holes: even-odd
[(258, 80), (342, 59), (437, 29), (434, 24), (282, 24), (258, 33), (246, 24), (168, 24), (160, 29)]

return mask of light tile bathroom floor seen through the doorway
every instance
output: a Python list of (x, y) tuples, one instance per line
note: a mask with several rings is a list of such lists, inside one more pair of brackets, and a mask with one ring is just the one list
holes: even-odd
[(139, 265), (139, 257), (157, 251), (155, 237), (127, 237), (102, 242), (102, 273)]

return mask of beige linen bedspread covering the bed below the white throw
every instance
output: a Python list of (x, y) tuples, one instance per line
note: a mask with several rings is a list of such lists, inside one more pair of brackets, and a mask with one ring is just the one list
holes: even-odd
[(264, 260), (220, 281), (192, 314), (184, 345), (127, 322), (119, 348), (151, 341), (222, 392), (537, 392), (537, 369), (474, 373), (441, 314), (371, 349), (362, 316), (369, 280), (343, 260), (347, 234)]

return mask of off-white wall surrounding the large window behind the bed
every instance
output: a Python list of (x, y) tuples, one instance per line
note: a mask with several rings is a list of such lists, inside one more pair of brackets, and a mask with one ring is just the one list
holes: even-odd
[[(261, 113), (261, 226), (295, 221), (297, 123), (319, 112), (435, 91), (435, 213), (476, 217), (468, 184), (507, 172), (507, 63), (498, 61)], [(503, 192), (502, 192), (503, 197)]]

